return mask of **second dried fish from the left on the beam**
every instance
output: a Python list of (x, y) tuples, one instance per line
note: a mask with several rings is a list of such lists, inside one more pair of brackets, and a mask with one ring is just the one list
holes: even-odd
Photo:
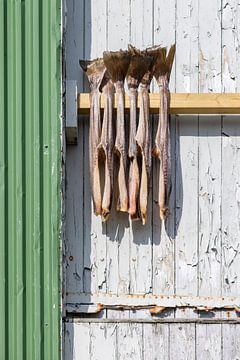
[(113, 193), (113, 101), (114, 86), (109, 73), (106, 71), (102, 81), (102, 93), (104, 97), (104, 114), (102, 123), (102, 135), (99, 149), (103, 153), (105, 161), (105, 183), (102, 199), (102, 220), (106, 221), (112, 204)]

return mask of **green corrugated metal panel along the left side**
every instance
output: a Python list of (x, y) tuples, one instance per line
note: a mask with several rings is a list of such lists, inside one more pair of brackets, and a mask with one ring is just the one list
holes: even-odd
[(0, 0), (0, 48), (0, 359), (54, 360), (60, 0)]

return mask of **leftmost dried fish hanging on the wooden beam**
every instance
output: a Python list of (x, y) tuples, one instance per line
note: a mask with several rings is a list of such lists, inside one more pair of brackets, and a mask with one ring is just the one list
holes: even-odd
[(90, 128), (89, 128), (89, 166), (90, 181), (94, 213), (102, 213), (102, 196), (99, 169), (99, 144), (101, 141), (101, 119), (100, 119), (100, 85), (106, 68), (103, 59), (92, 61), (79, 61), (80, 66), (86, 72), (90, 83)]

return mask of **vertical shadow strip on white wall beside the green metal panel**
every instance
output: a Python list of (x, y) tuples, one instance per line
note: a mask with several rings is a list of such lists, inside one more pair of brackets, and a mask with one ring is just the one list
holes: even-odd
[[(66, 80), (75, 80), (78, 85), (78, 92), (88, 92), (88, 83), (84, 78), (83, 72), (79, 67), (79, 59), (89, 59), (91, 50), (91, 31), (87, 34), (85, 29), (90, 29), (91, 26), (91, 1), (89, 0), (65, 0), (64, 1), (65, 14), (65, 49), (63, 56), (65, 60), (65, 69), (63, 74), (66, 74)], [(64, 22), (63, 22), (64, 23)], [(88, 26), (86, 27), (86, 24)], [(65, 277), (65, 293), (68, 291), (71, 280), (67, 276), (67, 268), (74, 263), (75, 269), (71, 276), (75, 276), (76, 289), (79, 292), (89, 291), (84, 288), (84, 273), (79, 271), (79, 268), (89, 268), (90, 271), (90, 254), (91, 254), (91, 239), (90, 234), (85, 229), (91, 228), (91, 204), (89, 201), (89, 192), (86, 188), (88, 182), (87, 176), (88, 165), (85, 159), (87, 149), (88, 121), (86, 118), (81, 118), (79, 124), (79, 143), (78, 145), (68, 145), (66, 149), (66, 239), (64, 244), (65, 257), (63, 259)], [(85, 178), (86, 176), (86, 178)], [(76, 219), (79, 222), (76, 223)], [(78, 221), (78, 220), (77, 220)], [(76, 248), (72, 247), (72, 243), (77, 244), (77, 250), (80, 249), (81, 254), (74, 252)], [(86, 245), (88, 248), (86, 249)], [(84, 254), (85, 253), (85, 254)], [(87, 256), (86, 256), (87, 255)], [(88, 259), (87, 259), (88, 257)], [(81, 264), (80, 264), (81, 262)], [(90, 278), (90, 277), (89, 277)], [(88, 288), (91, 289), (91, 283), (88, 281)], [(65, 294), (67, 297), (67, 294)], [(86, 299), (91, 302), (89, 299)], [(63, 304), (64, 305), (64, 304)], [(64, 310), (63, 313), (65, 313)], [(66, 313), (63, 324), (63, 359), (73, 360), (79, 357), (75, 354), (74, 349), (74, 323), (71, 321), (71, 314)]]

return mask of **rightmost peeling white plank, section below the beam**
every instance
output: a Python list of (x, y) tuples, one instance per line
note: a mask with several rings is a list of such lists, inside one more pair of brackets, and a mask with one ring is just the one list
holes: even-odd
[(222, 127), (222, 282), (223, 295), (239, 293), (240, 128), (230, 117)]

